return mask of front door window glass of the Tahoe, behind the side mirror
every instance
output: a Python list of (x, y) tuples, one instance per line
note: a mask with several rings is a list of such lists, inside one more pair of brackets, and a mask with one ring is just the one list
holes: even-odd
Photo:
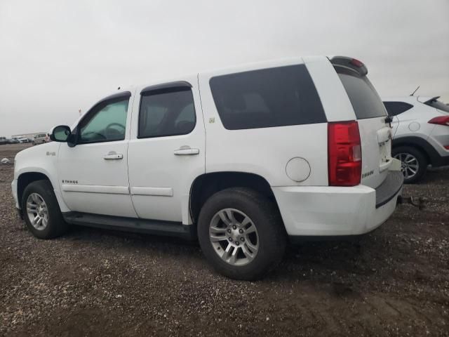
[(129, 98), (115, 98), (93, 107), (79, 125), (80, 143), (124, 140)]

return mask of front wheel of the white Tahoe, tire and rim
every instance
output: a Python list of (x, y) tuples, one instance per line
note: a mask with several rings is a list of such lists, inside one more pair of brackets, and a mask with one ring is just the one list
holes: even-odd
[(48, 180), (36, 180), (25, 187), (22, 212), (30, 232), (39, 239), (52, 239), (67, 230), (53, 187)]

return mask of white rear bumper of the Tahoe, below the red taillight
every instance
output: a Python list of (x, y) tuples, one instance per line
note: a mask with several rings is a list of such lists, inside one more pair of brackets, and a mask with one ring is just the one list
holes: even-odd
[(272, 187), (289, 236), (365, 234), (396, 208), (403, 176), (390, 171), (380, 187)]

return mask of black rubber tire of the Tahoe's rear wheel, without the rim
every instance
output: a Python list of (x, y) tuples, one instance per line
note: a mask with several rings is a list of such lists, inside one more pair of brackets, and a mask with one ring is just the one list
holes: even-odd
[[(222, 260), (210, 240), (210, 223), (223, 209), (245, 213), (257, 229), (259, 249), (253, 260), (245, 265), (232, 265)], [(199, 214), (198, 238), (204, 256), (217, 272), (232, 279), (244, 280), (260, 279), (276, 267), (282, 260), (287, 242), (281, 215), (274, 202), (241, 187), (222, 190), (206, 201)]]

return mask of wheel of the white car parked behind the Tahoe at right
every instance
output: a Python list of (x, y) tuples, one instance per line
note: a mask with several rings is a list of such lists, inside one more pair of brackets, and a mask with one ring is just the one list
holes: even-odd
[(393, 157), (402, 163), (404, 183), (417, 183), (427, 171), (427, 158), (415, 147), (401, 146), (392, 150)]

